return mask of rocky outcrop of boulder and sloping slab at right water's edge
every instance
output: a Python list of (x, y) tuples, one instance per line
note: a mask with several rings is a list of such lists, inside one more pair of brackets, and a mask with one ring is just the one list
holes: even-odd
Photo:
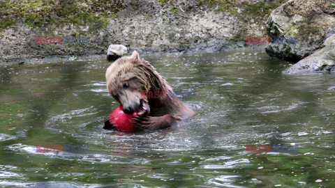
[(293, 63), (299, 61), (284, 73), (335, 70), (335, 1), (290, 0), (283, 3), (267, 20), (267, 33), (269, 36), (299, 38), (295, 44), (271, 43), (266, 47), (270, 56)]

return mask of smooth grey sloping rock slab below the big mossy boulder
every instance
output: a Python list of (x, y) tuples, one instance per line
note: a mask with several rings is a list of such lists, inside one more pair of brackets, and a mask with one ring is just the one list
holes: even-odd
[(335, 35), (327, 38), (314, 54), (308, 56), (285, 70), (284, 74), (306, 72), (334, 72), (335, 71)]

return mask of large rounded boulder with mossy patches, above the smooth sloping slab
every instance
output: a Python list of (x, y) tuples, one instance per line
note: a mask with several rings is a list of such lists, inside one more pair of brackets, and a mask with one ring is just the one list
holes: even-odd
[(269, 36), (298, 38), (299, 42), (267, 45), (270, 56), (297, 62), (320, 48), (334, 33), (335, 6), (327, 0), (290, 0), (272, 11), (267, 19)]

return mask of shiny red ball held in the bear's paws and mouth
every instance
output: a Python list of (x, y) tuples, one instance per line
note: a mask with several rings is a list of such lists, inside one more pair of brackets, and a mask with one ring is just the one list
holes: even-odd
[(133, 114), (124, 113), (124, 108), (122, 106), (117, 107), (111, 114), (110, 114), (110, 123), (116, 122), (117, 123), (117, 130), (124, 131), (124, 132), (134, 132), (136, 130), (135, 123), (132, 123), (132, 118), (138, 116), (137, 111)]

